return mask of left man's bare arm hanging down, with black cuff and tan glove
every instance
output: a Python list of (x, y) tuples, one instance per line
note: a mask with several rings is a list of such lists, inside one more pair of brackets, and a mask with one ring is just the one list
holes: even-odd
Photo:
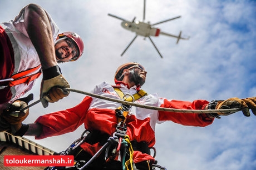
[(26, 6), (24, 24), (42, 65), (40, 98), (44, 98), (42, 104), (47, 107), (48, 102), (57, 102), (68, 96), (69, 92), (63, 91), (63, 88), (70, 88), (70, 85), (57, 66), (51, 22), (45, 10), (37, 4)]

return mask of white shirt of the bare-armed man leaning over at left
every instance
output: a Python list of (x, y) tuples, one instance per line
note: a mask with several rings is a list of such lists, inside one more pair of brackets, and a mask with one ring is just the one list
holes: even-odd
[[(0, 26), (4, 29), (4, 31), (8, 35), (8, 38), (11, 41), (12, 48), (13, 48), (13, 53), (14, 53), (13, 66), (11, 65), (12, 63), (6, 63), (8, 64), (6, 67), (14, 67), (12, 75), (23, 72), (23, 71), (27, 71), (31, 68), (35, 68), (37, 66), (40, 66), (41, 64), (36, 48), (33, 46), (24, 25), (24, 8), (21, 9), (21, 12), (19, 12), (18, 16), (14, 19), (14, 21), (11, 20), (9, 22), (0, 23)], [(48, 14), (47, 12), (46, 14), (50, 19), (50, 24), (52, 28), (52, 37), (53, 37), (53, 40), (55, 40), (58, 36), (59, 28), (57, 24), (52, 20), (50, 14)], [(41, 67), (35, 70), (34, 72), (30, 72), (29, 75), (37, 73), (38, 71), (40, 71), (40, 69)], [(2, 73), (0, 72), (0, 74)], [(6, 77), (6, 78), (11, 78), (11, 77)], [(35, 84), (35, 81), (36, 79), (33, 81), (30, 81), (29, 83), (22, 83), (22, 84), (18, 84), (17, 86), (11, 87), (12, 98), (8, 102), (12, 103), (16, 99), (22, 97), (25, 93), (31, 90), (31, 88)], [(0, 108), (3, 107), (4, 104), (5, 103), (0, 104)]]

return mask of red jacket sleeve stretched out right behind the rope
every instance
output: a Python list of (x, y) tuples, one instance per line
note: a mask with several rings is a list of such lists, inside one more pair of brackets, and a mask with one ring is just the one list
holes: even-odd
[[(164, 103), (160, 107), (175, 108), (175, 109), (204, 109), (208, 101), (196, 100), (193, 102), (186, 101), (168, 101), (164, 99)], [(214, 119), (209, 118), (206, 114), (198, 113), (176, 113), (159, 111), (159, 121), (173, 121), (175, 123), (183, 124), (184, 126), (208, 126), (213, 123)]]

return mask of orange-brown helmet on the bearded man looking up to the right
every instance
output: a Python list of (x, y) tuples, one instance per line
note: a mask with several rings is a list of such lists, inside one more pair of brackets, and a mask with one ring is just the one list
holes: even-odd
[(114, 79), (115, 82), (122, 81), (122, 76), (124, 76), (122, 74), (122, 72), (124, 71), (124, 69), (131, 69), (131, 68), (135, 68), (135, 67), (140, 68), (142, 71), (145, 71), (145, 68), (143, 66), (141, 66), (139, 63), (129, 62), (129, 63), (122, 64), (116, 70), (115, 79)]

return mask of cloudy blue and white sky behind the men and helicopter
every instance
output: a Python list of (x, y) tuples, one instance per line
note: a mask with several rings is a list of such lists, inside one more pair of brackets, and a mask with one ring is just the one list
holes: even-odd
[[(125, 62), (139, 62), (147, 70), (142, 89), (160, 97), (193, 101), (256, 96), (256, 2), (148, 0), (146, 19), (151, 23), (181, 16), (157, 25), (161, 31), (190, 36), (189, 41), (152, 37), (163, 59), (149, 39), (137, 37), (120, 57), (135, 34), (121, 27), (115, 14), (142, 20), (143, 1), (14, 1), (0, 2), (1, 22), (14, 19), (28, 3), (40, 4), (51, 14), (60, 31), (74, 31), (85, 42), (78, 62), (61, 64), (71, 88), (90, 92), (102, 81), (114, 83), (116, 68)], [(40, 80), (31, 93), (39, 98)], [(46, 113), (75, 106), (85, 97), (71, 93), (60, 102), (43, 108), (37, 104), (25, 123)], [(167, 169), (243, 170), (256, 167), (256, 117), (242, 112), (215, 119), (208, 127), (185, 127), (173, 122), (156, 126), (156, 159)], [(63, 151), (80, 137), (83, 127), (63, 136), (34, 140), (56, 152)]]

